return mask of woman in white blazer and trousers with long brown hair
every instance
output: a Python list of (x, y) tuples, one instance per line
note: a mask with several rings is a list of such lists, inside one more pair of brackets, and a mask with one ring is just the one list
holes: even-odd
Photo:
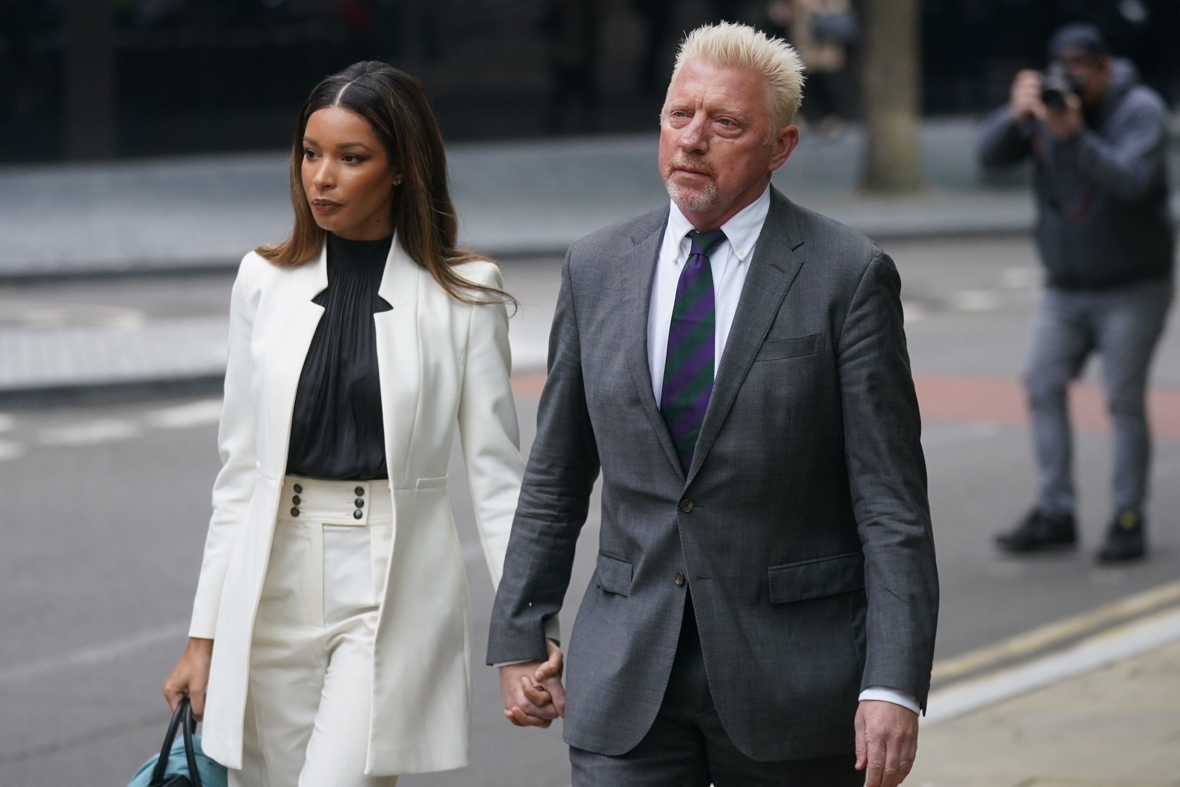
[[(321, 83), (291, 156), (295, 229), (242, 261), (223, 467), (189, 647), (164, 684), (242, 787), (391, 786), (467, 763), (458, 425), (499, 582), (523, 463), (492, 263), (455, 248), (421, 85)], [(556, 669), (555, 656), (553, 668)]]

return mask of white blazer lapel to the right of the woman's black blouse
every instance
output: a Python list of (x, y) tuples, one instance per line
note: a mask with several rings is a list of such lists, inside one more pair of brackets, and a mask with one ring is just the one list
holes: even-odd
[(393, 308), (373, 315), (386, 466), (394, 488), (413, 480), (406, 478), (406, 468), (421, 380), (418, 299), (422, 273), (395, 237), (378, 289), (378, 295)]

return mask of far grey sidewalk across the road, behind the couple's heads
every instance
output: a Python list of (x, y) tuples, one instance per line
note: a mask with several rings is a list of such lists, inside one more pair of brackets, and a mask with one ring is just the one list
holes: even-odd
[[(927, 191), (857, 190), (861, 136), (805, 133), (775, 184), (878, 237), (1028, 229), (1021, 177), (985, 185), (970, 119), (923, 127)], [(562, 254), (577, 238), (667, 201), (655, 133), (448, 149), (463, 241), (493, 255)], [(195, 156), (0, 168), (0, 277), (227, 267), (290, 228), (287, 156)]]

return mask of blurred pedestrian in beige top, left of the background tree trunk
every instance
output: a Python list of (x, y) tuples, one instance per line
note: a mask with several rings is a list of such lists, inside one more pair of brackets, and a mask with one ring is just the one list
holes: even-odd
[(789, 31), (804, 61), (807, 98), (800, 107), (808, 123), (832, 139), (848, 116), (846, 66), (848, 45), (857, 40), (857, 17), (848, 0), (772, 0), (767, 15)]

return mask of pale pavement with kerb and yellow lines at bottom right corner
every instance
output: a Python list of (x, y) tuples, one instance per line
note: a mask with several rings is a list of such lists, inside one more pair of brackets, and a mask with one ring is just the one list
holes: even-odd
[(936, 663), (907, 783), (1180, 785), (1178, 601), (1169, 582)]

